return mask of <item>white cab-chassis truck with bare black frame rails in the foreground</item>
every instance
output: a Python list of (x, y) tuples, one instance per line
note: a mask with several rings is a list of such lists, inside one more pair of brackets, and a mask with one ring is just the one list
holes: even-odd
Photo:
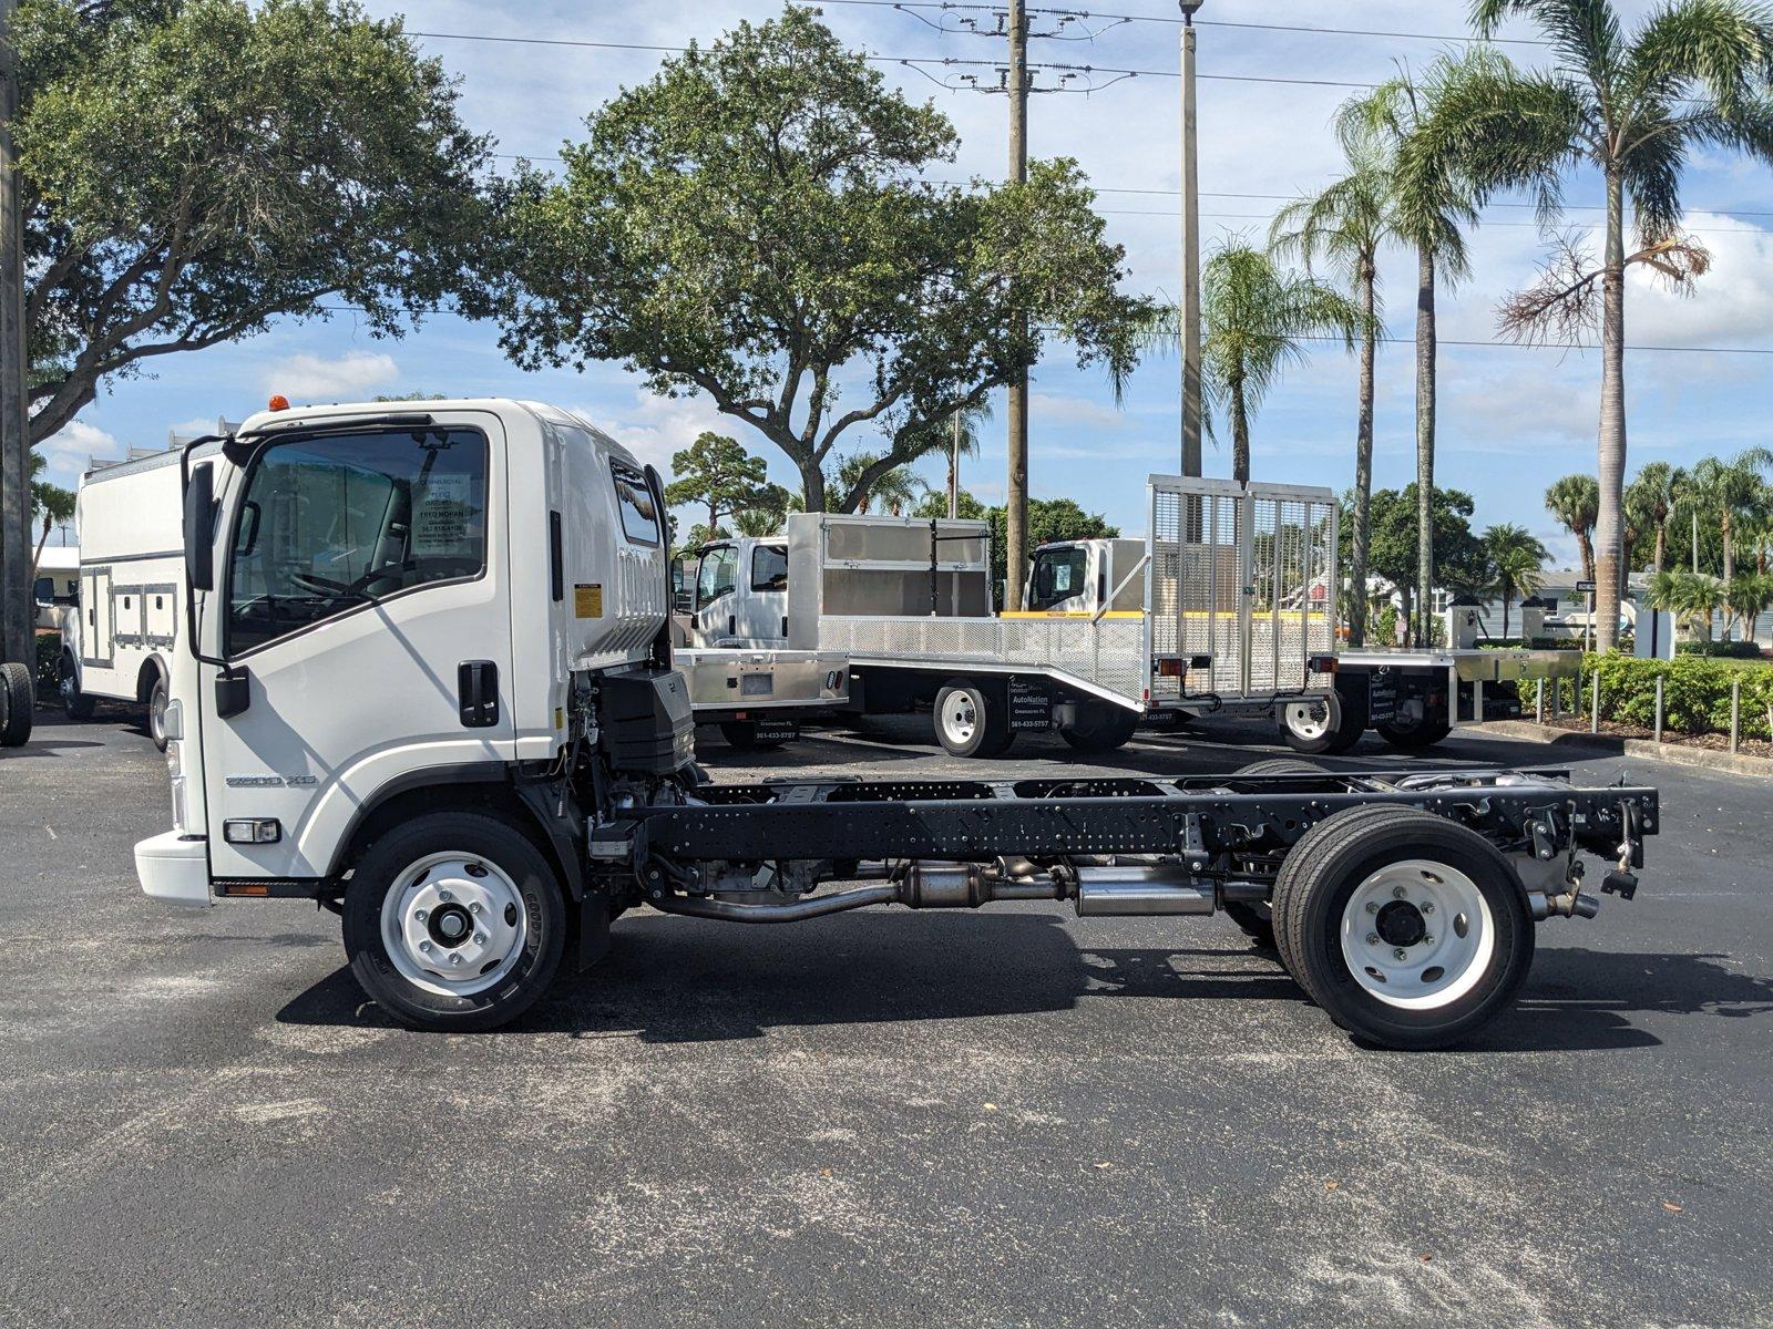
[(172, 829), (137, 845), (142, 888), (317, 900), (417, 1028), (504, 1024), (628, 909), (1069, 900), (1225, 909), (1335, 1021), (1427, 1047), (1509, 1003), (1537, 920), (1596, 913), (1583, 852), (1629, 897), (1658, 829), (1652, 789), (1557, 771), (713, 783), (670, 666), (663, 487), (590, 425), (328, 406), (183, 470)]

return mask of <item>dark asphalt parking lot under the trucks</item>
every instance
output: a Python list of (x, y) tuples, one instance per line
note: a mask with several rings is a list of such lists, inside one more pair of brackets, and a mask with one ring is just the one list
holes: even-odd
[[(142, 898), (158, 753), (39, 721), (0, 757), (0, 1324), (1773, 1324), (1752, 778), (1629, 764), (1636, 902), (1548, 923), (1452, 1053), (1356, 1047), (1222, 920), (1035, 905), (631, 914), (518, 1026), (436, 1037), (363, 1005), (332, 914)], [(961, 766), (915, 725), (706, 760)]]

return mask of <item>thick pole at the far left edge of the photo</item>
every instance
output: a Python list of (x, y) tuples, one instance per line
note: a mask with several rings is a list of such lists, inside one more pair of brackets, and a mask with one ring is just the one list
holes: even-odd
[(12, 14), (0, 0), (0, 659), (35, 672), (30, 602), (30, 420), (25, 400), (25, 202), (18, 186)]

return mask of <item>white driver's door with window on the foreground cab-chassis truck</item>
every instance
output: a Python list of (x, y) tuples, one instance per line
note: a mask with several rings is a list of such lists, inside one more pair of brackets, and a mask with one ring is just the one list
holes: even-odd
[[(223, 716), (200, 666), (213, 877), (324, 875), (402, 776), (514, 755), (502, 418), (317, 425), (271, 436), (222, 503), (202, 647), (245, 672), (246, 707)], [(230, 819), (280, 836), (229, 843)]]

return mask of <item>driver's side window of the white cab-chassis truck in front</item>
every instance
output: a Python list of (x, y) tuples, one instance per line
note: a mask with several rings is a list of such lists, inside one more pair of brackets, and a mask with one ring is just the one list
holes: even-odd
[(229, 556), (227, 643), (301, 627), (486, 567), (486, 438), (473, 429), (271, 443)]

